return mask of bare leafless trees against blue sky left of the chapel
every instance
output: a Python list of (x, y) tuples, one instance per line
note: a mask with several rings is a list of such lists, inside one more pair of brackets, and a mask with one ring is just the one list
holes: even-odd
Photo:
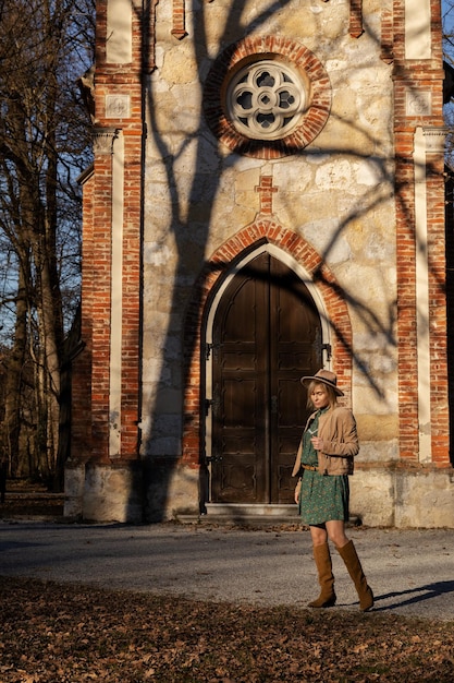
[(1, 0), (0, 14), (1, 439), (11, 474), (49, 481), (61, 475), (62, 286), (70, 311), (78, 297), (89, 121), (76, 81), (91, 62), (94, 1)]

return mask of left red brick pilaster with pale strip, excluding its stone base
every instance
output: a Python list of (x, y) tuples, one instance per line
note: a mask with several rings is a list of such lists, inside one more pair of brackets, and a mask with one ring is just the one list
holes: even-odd
[(103, 206), (110, 231), (108, 238), (96, 226), (100, 233), (99, 242), (94, 240), (95, 251), (106, 249), (110, 263), (108, 279), (102, 279), (97, 264), (93, 274), (99, 312), (103, 313), (103, 304), (109, 309), (108, 331), (101, 329), (102, 319), (94, 320), (99, 332), (94, 327), (93, 420), (99, 446), (94, 446), (93, 456), (103, 459), (107, 453), (115, 465), (138, 460), (139, 448), (142, 70), (147, 69), (143, 50), (149, 45), (150, 29), (145, 23), (150, 17), (144, 12), (143, 17), (130, 0), (97, 3), (96, 117), (116, 136), (109, 179), (102, 161), (95, 160), (95, 202)]

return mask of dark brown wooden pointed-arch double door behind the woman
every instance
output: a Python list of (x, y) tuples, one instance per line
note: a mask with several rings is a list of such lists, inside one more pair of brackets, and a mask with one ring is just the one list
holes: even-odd
[(299, 379), (321, 367), (321, 322), (307, 287), (269, 253), (231, 280), (212, 332), (213, 503), (293, 503), (307, 417)]

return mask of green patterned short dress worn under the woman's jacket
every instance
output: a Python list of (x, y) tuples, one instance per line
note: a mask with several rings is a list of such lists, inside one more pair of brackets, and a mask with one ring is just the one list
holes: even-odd
[[(320, 415), (329, 407), (318, 410), (303, 434), (302, 463), (318, 465), (317, 451), (310, 440), (317, 435)], [(303, 524), (316, 526), (333, 519), (348, 520), (349, 488), (347, 475), (320, 475), (304, 470), (299, 493), (299, 514)]]

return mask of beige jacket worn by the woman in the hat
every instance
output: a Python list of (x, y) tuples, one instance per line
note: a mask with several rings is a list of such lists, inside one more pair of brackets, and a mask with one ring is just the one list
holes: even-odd
[[(315, 412), (309, 416), (305, 431)], [(359, 452), (356, 421), (353, 412), (342, 406), (330, 408), (319, 418), (318, 436), (322, 448), (318, 452), (318, 471), (322, 475), (353, 475), (353, 458)], [(303, 439), (298, 446), (292, 477), (300, 470)]]

